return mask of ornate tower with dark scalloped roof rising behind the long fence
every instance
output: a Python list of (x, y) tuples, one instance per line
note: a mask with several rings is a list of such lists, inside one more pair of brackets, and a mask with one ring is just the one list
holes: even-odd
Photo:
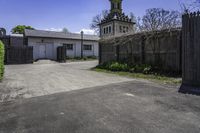
[(134, 22), (123, 13), (123, 0), (109, 0), (110, 13), (99, 24), (100, 37), (109, 38), (134, 33)]

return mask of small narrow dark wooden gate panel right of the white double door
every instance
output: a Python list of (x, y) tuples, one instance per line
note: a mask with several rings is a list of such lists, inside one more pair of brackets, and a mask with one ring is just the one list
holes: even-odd
[(65, 62), (66, 61), (66, 47), (60, 46), (57, 48), (57, 61)]

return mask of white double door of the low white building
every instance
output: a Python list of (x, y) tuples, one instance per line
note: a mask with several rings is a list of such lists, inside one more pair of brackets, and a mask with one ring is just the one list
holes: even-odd
[(54, 59), (53, 44), (40, 43), (34, 46), (35, 59)]

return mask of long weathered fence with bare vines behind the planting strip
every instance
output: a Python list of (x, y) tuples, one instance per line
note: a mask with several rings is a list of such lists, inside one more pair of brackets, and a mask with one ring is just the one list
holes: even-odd
[(127, 61), (181, 72), (181, 29), (137, 33), (100, 40), (100, 64)]

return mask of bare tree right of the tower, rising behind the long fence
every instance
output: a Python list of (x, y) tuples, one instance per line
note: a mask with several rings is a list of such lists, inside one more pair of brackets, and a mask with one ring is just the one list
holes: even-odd
[(139, 31), (155, 31), (181, 26), (181, 14), (178, 11), (168, 11), (161, 8), (146, 10), (146, 14), (137, 20)]

